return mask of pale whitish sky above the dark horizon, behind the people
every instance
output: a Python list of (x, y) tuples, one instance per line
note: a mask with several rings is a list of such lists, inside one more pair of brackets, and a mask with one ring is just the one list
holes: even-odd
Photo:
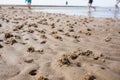
[[(32, 5), (66, 5), (87, 6), (88, 0), (32, 0)], [(114, 7), (116, 0), (94, 0), (93, 5), (99, 7)], [(25, 0), (0, 0), (0, 5), (25, 5)]]

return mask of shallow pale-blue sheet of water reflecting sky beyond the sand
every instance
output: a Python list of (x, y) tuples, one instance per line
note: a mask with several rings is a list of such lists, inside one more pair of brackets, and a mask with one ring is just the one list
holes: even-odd
[(67, 15), (87, 16), (87, 17), (99, 17), (99, 18), (116, 18), (120, 19), (120, 10), (115, 10), (112, 7), (96, 7), (91, 12), (88, 12), (87, 7), (38, 7), (33, 9), (34, 12), (48, 12), (48, 13), (60, 13)]

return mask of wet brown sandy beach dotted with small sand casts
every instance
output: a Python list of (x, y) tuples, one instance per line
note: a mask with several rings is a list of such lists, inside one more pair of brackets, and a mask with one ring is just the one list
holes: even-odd
[(0, 80), (120, 80), (120, 19), (0, 7)]

